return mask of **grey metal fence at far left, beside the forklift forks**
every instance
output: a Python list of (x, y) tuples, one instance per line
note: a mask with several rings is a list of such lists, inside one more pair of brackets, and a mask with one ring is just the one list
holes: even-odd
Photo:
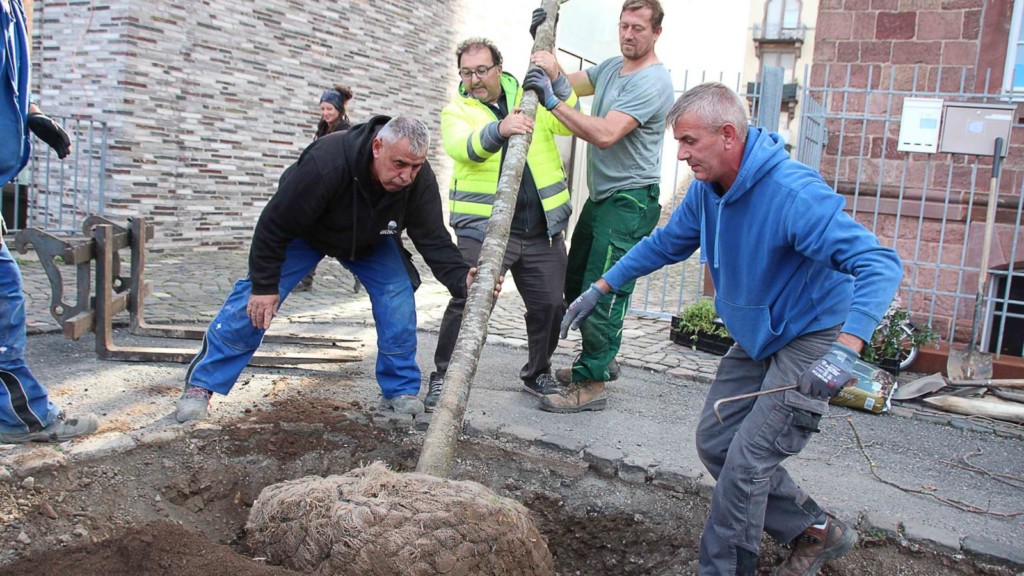
[(11, 231), (40, 228), (79, 233), (88, 215), (102, 215), (108, 179), (105, 122), (53, 118), (63, 126), (72, 152), (60, 160), (33, 136), (32, 158), (3, 190), (3, 214)]

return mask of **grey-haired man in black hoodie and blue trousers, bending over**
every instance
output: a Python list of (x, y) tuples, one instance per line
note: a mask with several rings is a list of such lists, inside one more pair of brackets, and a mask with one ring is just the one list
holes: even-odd
[(444, 228), (429, 143), (422, 122), (378, 116), (315, 140), (285, 170), (256, 224), (249, 277), (234, 284), (188, 366), (179, 422), (205, 418), (212, 394), (231, 389), (278, 307), (324, 256), (337, 258), (370, 295), (382, 408), (423, 411), (413, 298), (419, 277), (401, 231), (453, 296), (467, 295), (475, 273)]

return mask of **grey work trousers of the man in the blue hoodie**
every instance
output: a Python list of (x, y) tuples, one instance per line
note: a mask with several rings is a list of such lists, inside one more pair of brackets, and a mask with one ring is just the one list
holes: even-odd
[(700, 576), (753, 575), (761, 534), (790, 542), (821, 513), (781, 463), (803, 450), (827, 403), (797, 390), (715, 401), (796, 384), (828, 352), (839, 327), (805, 334), (763, 361), (732, 346), (722, 358), (697, 424), (697, 455), (718, 481), (700, 537)]

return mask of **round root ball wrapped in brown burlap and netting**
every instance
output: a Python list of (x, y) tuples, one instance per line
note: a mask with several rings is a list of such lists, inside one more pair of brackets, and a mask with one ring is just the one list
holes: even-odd
[(380, 462), (263, 489), (246, 525), (253, 552), (312, 574), (551, 576), (525, 507), (475, 482)]

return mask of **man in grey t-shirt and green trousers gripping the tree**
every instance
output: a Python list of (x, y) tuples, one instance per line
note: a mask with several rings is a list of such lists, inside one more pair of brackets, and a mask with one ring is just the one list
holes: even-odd
[[(565, 298), (572, 301), (582, 294), (599, 298), (594, 313), (580, 326), (583, 351), (571, 368), (555, 371), (562, 386), (542, 399), (542, 410), (602, 410), (607, 404), (604, 382), (618, 375), (615, 354), (635, 283), (608, 294), (592, 283), (654, 230), (662, 212), (657, 203), (662, 143), (665, 117), (674, 99), (672, 78), (654, 53), (664, 17), (657, 0), (626, 0), (618, 18), (623, 55), (568, 76), (577, 94), (594, 95), (591, 116), (553, 95), (548, 76), (556, 76), (558, 65), (551, 52), (531, 57), (548, 75), (527, 74), (523, 82), (573, 134), (590, 142), (590, 199), (572, 233)], [(563, 338), (566, 331), (563, 325)]]

